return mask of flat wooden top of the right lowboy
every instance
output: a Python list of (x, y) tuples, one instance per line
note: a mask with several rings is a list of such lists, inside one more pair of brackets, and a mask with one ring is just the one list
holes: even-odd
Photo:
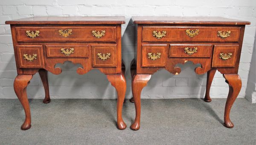
[(206, 24), (206, 25), (250, 25), (250, 22), (224, 17), (132, 17), (135, 24)]

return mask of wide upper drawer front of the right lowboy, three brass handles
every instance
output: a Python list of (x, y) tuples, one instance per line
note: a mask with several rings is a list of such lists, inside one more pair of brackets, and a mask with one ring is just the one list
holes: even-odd
[(240, 27), (144, 26), (143, 42), (238, 42)]

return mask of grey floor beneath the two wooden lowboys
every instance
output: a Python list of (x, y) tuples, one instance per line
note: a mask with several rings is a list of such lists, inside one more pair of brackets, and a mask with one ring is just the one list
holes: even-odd
[(116, 128), (116, 100), (55, 99), (49, 104), (29, 100), (32, 128), (21, 131), (25, 118), (17, 99), (0, 99), (0, 144), (87, 145), (256, 145), (256, 104), (237, 99), (223, 124), (226, 99), (142, 100), (141, 128), (132, 131), (134, 104), (126, 100), (123, 119)]

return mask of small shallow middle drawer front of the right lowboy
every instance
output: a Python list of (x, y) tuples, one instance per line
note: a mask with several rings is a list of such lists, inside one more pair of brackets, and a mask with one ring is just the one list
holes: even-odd
[(210, 58), (211, 56), (212, 45), (171, 44), (169, 47), (169, 57)]

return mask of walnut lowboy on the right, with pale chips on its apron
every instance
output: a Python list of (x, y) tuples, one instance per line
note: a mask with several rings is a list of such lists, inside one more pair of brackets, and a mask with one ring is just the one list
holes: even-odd
[(229, 85), (224, 125), (233, 128), (230, 110), (241, 89), (238, 68), (245, 25), (250, 22), (221, 17), (132, 17), (137, 29), (137, 57), (131, 63), (132, 93), (136, 117), (131, 129), (140, 128), (140, 94), (151, 74), (166, 69), (180, 74), (177, 63), (200, 63), (196, 74), (207, 73), (204, 100), (211, 102), (209, 90), (215, 71)]

